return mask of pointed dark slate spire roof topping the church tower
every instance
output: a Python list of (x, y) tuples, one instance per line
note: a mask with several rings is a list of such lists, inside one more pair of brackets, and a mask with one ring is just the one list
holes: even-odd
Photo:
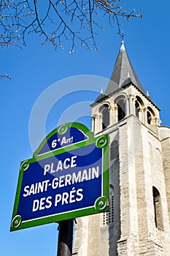
[(121, 44), (120, 52), (117, 56), (115, 67), (105, 94), (112, 94), (114, 91), (117, 91), (117, 89), (123, 88), (129, 81), (134, 83), (134, 85), (145, 94), (142, 84), (139, 82), (136, 72), (131, 65), (131, 61), (128, 59), (128, 55), (125, 52), (124, 42), (122, 41)]

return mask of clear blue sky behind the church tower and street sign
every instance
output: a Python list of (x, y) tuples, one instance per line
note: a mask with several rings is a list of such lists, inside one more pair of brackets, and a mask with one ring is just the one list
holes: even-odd
[[(161, 108), (162, 125), (170, 126), (169, 1), (163, 0), (161, 4), (156, 4), (155, 1), (128, 1), (128, 4), (130, 6), (125, 7), (127, 10), (135, 7), (136, 12), (144, 14), (144, 18), (123, 21), (126, 51), (142, 86)], [(77, 43), (72, 54), (69, 54), (69, 49), (55, 52), (50, 44), (41, 46), (40, 42), (39, 37), (31, 35), (28, 37), (28, 47), (24, 50), (16, 47), (1, 49), (0, 73), (8, 73), (12, 77), (12, 80), (0, 80), (0, 253), (3, 256), (56, 255), (56, 224), (9, 233), (20, 162), (32, 156), (28, 129), (31, 110), (36, 100), (49, 86), (65, 78), (77, 75), (109, 78), (120, 49), (120, 37), (117, 36), (116, 28), (109, 27), (109, 23), (104, 23), (104, 31), (96, 37), (98, 51), (85, 50)], [(80, 85), (80, 92), (65, 95), (61, 102), (56, 103), (47, 116), (45, 126), (40, 125), (39, 129), (45, 128), (46, 134), (49, 133), (56, 127), (64, 111), (79, 102), (93, 102), (101, 90), (100, 83), (95, 91), (88, 89), (83, 92), (83, 86)], [(61, 83), (58, 83), (56, 98), (62, 90)], [(89, 111), (90, 108), (87, 107), (85, 116), (89, 116)], [(74, 118), (79, 117), (78, 113), (77, 116), (74, 115)], [(89, 118), (82, 118), (80, 121), (90, 127)], [(41, 136), (35, 138), (34, 146), (39, 146), (42, 139)]]

